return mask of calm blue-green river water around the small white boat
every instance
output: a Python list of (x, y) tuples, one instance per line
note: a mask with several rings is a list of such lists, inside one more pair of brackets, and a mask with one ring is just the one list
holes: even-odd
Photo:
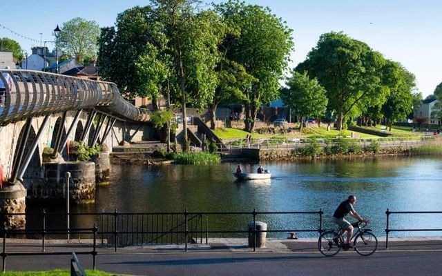
[[(232, 175), (237, 165), (113, 165), (111, 183), (97, 188), (95, 204), (73, 206), (71, 212), (251, 212), (254, 208), (259, 212), (298, 212), (322, 208), (324, 227), (328, 229), (335, 227), (330, 221), (340, 201), (356, 195), (356, 211), (370, 220), (376, 235), (385, 236), (387, 208), (442, 210), (442, 159), (369, 157), (267, 162), (262, 165), (271, 172), (269, 181), (242, 182)], [(258, 167), (241, 165), (244, 172), (255, 172)], [(232, 225), (224, 227), (247, 228), (241, 219), (229, 220)], [(269, 229), (318, 228), (318, 215), (277, 215), (258, 220), (267, 222)], [(226, 224), (226, 219), (223, 221)], [(390, 228), (442, 229), (442, 214), (391, 215)], [(440, 236), (441, 232), (390, 233), (390, 237), (430, 235)]]

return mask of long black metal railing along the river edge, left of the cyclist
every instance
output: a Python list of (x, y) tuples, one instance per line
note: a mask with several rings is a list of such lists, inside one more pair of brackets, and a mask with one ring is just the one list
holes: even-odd
[[(249, 234), (256, 236), (256, 233), (290, 233), (290, 232), (311, 232), (321, 233), (323, 231), (323, 210), (312, 212), (212, 212), (212, 213), (190, 213), (185, 210), (182, 213), (8, 213), (2, 216), (13, 219), (13, 216), (26, 215), (27, 225), (43, 229), (40, 233), (26, 233), (27, 237), (41, 235), (42, 250), (44, 250), (45, 239), (66, 238), (62, 233), (48, 231), (59, 227), (59, 224), (66, 223), (66, 217), (70, 217), (70, 225), (73, 227), (85, 224), (97, 224), (97, 239), (101, 244), (111, 244), (115, 252), (121, 246), (131, 245), (155, 245), (155, 244), (184, 244), (187, 251), (188, 244), (207, 244), (209, 235), (215, 234), (232, 235)], [(273, 221), (274, 216), (289, 215), (291, 220), (296, 220), (293, 216), (318, 216), (318, 228), (269, 228), (265, 231), (249, 229), (233, 229), (232, 221), (236, 224), (246, 226), (248, 222), (256, 223), (257, 219), (262, 221)], [(273, 216), (273, 217), (272, 217)], [(37, 217), (37, 219), (31, 219)], [(48, 219), (51, 217), (52, 219)], [(285, 219), (289, 221), (289, 219)], [(214, 226), (211, 224), (213, 223)], [(218, 226), (217, 226), (218, 225)], [(271, 225), (271, 224), (269, 224)], [(218, 228), (217, 228), (218, 227)], [(72, 239), (79, 238), (79, 233), (70, 232)], [(87, 238), (87, 233), (81, 233), (81, 238)], [(219, 235), (218, 235), (219, 237)], [(255, 248), (253, 248), (255, 250)]]

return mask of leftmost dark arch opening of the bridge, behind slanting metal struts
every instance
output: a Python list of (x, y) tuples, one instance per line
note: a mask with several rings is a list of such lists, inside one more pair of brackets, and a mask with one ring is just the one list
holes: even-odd
[[(25, 132), (25, 126), (21, 128), (19, 140), (21, 141), (21, 137), (23, 137)], [(26, 156), (28, 155), (29, 151), (32, 148), (32, 144), (35, 141), (35, 138), (37, 137), (34, 127), (31, 126), (28, 139), (26, 140), (26, 146), (25, 150), (23, 151), (23, 157), (21, 159), (21, 164), (19, 166), (23, 165), (23, 162), (25, 161)], [(32, 154), (32, 157), (30, 159), (30, 162), (28, 164), (28, 168), (26, 168), (24, 175), (23, 175), (23, 186), (29, 190), (32, 187), (32, 184), (37, 183), (40, 179), (40, 172), (41, 172), (41, 158), (39, 152), (42, 150), (39, 150), (38, 148), (35, 149), (34, 153)], [(15, 147), (14, 152), (14, 161), (17, 160), (19, 154), (19, 143)], [(28, 195), (29, 197), (29, 195)]]

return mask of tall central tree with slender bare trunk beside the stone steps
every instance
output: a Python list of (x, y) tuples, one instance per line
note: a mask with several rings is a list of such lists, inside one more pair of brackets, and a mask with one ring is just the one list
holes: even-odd
[[(186, 104), (202, 110), (213, 99), (218, 85), (215, 66), (225, 25), (211, 10), (197, 12), (194, 0), (152, 0), (157, 22), (164, 29), (171, 57), (173, 100), (179, 101), (186, 118)], [(183, 119), (184, 150), (188, 149), (187, 120)]]

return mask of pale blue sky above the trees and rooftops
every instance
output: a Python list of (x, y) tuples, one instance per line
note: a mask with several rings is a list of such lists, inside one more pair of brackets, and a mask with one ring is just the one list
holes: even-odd
[[(44, 41), (48, 41), (46, 46), (52, 50), (55, 48), (55, 43), (50, 42), (55, 39), (52, 30), (57, 24), (61, 28), (64, 22), (81, 17), (96, 21), (100, 27), (114, 26), (117, 14), (148, 3), (148, 0), (0, 0), (0, 37), (18, 41), (28, 55), (32, 46), (44, 46)], [(246, 3), (269, 7), (294, 30), (295, 50), (291, 53), (290, 68), (305, 60), (320, 34), (342, 31), (367, 43), (386, 59), (402, 63), (416, 76), (417, 89), (424, 98), (442, 82), (442, 0), (247, 0)]]

